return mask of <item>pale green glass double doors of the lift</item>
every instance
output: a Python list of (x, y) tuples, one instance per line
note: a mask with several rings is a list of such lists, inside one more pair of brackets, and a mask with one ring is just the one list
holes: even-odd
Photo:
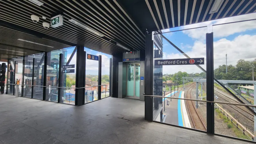
[(140, 98), (140, 63), (127, 63), (126, 96)]

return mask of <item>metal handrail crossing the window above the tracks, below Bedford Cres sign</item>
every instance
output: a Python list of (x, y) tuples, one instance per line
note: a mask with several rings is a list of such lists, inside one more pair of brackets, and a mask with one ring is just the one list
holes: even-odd
[(189, 100), (189, 101), (200, 101), (200, 102), (206, 102), (206, 103), (220, 103), (220, 104), (227, 104), (227, 105), (240, 105), (240, 106), (246, 106), (246, 107), (256, 107), (256, 105), (247, 105), (247, 104), (240, 104), (240, 103), (226, 103), (226, 102), (219, 102), (219, 101), (204, 101), (204, 100), (197, 100), (197, 99), (190, 99), (190, 98), (155, 96), (155, 95), (146, 95), (145, 93), (142, 95), (143, 96), (159, 97), (159, 98), (173, 98), (173, 99), (181, 99), (181, 100)]

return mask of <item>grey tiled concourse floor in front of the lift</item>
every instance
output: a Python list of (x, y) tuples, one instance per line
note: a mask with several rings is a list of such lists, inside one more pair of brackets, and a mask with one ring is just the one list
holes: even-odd
[(144, 120), (144, 102), (106, 98), (75, 107), (0, 95), (0, 144), (238, 144)]

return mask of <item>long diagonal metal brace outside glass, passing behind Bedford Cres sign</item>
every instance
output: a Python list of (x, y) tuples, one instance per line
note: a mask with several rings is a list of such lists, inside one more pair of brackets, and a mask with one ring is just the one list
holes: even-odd
[[(159, 33), (159, 35), (161, 35), (166, 41), (168, 41), (174, 48), (176, 48), (176, 50), (178, 50), (180, 53), (182, 53), (184, 56), (186, 56), (186, 58), (190, 58), (187, 54), (185, 54), (185, 52), (183, 52), (182, 50), (180, 50), (180, 48), (178, 48), (174, 43), (172, 43), (169, 39), (167, 39), (163, 34), (161, 34), (159, 31), (157, 31)], [(204, 68), (202, 68), (199, 65), (196, 65), (199, 69), (201, 69), (202, 71), (204, 71), (206, 73), (206, 70)], [(220, 86), (222, 86), (225, 90), (227, 90), (227, 92), (229, 92), (234, 98), (236, 98), (240, 103), (242, 104), (246, 104), (244, 103), (240, 98), (238, 98), (235, 94), (233, 94), (229, 89), (227, 89), (225, 86), (223, 86), (223, 84), (221, 84), (217, 79), (213, 78), (214, 81), (216, 81)], [(250, 107), (246, 106), (246, 108), (251, 111), (255, 116), (256, 116), (256, 112), (251, 109)]]

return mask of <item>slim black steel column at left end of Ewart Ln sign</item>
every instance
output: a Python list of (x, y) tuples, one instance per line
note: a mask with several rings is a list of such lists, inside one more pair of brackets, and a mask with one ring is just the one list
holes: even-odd
[(62, 96), (63, 96), (63, 72), (62, 72), (62, 66), (63, 66), (63, 54), (60, 54), (60, 60), (59, 60), (59, 89), (58, 89), (58, 103), (63, 103)]

